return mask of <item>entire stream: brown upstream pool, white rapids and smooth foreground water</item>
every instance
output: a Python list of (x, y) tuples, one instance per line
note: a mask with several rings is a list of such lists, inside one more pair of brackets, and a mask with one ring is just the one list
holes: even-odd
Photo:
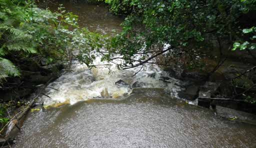
[[(79, 24), (90, 30), (111, 33), (121, 29), (122, 18), (103, 5), (59, 3), (79, 15)], [(56, 9), (56, 4), (49, 6)], [(101, 63), (99, 55), (94, 63)], [(177, 99), (182, 83), (153, 64), (127, 70), (115, 65), (88, 69), (74, 61), (49, 84), (58, 91), (47, 88), (45, 94), (50, 98), (40, 98), (44, 106), (53, 107), (29, 112), (13, 146), (256, 146), (255, 126), (216, 117), (209, 109)]]

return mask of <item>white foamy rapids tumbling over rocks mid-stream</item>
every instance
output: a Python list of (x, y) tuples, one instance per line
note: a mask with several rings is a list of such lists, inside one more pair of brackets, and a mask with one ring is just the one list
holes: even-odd
[[(111, 64), (100, 61), (100, 54), (94, 54), (96, 59), (93, 64)], [(116, 59), (114, 62), (121, 60)], [(172, 96), (176, 96), (176, 92), (180, 90), (177, 85), (179, 80), (170, 77), (156, 64), (146, 63), (142, 68), (141, 66), (120, 70), (112, 64), (88, 69), (85, 64), (74, 61), (70, 69), (66, 69), (59, 78), (48, 85), (57, 90), (46, 88), (45, 94), (50, 98), (43, 95), (41, 100), (44, 105), (51, 105), (61, 102), (73, 104), (93, 97), (118, 98), (129, 94), (135, 82), (137, 87), (165, 88)], [(168, 77), (169, 82), (159, 80), (162, 77)], [(128, 85), (115, 84), (120, 79)]]

